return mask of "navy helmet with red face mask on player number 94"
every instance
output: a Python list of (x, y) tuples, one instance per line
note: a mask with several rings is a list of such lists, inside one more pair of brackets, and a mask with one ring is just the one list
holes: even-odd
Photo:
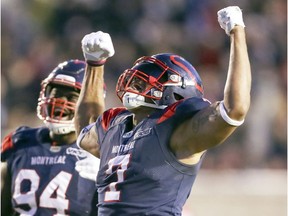
[(79, 60), (63, 62), (41, 83), (37, 116), (54, 134), (75, 131), (74, 112), (85, 67)]

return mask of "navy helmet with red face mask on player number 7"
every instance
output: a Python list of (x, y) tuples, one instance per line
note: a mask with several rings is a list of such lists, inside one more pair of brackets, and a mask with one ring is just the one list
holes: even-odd
[[(133, 104), (137, 104), (135, 108), (163, 109), (184, 98), (203, 97), (203, 86), (200, 76), (188, 61), (178, 55), (163, 53), (138, 59), (119, 77), (116, 92), (128, 109), (133, 109)], [(141, 97), (135, 103), (135, 95), (141, 95), (144, 100)], [(130, 101), (133, 104), (129, 104)]]

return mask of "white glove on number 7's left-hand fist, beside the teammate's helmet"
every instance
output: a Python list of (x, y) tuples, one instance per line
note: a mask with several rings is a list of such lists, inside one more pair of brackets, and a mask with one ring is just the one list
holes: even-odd
[(115, 53), (110, 35), (102, 31), (85, 35), (81, 44), (84, 58), (88, 64), (103, 65), (106, 59)]

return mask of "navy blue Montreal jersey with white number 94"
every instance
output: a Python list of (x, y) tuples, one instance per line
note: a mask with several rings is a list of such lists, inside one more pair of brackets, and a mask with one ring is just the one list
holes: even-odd
[(21, 215), (97, 215), (95, 182), (79, 176), (86, 157), (76, 143), (52, 146), (48, 128), (22, 127), (2, 143), (12, 176), (12, 204)]

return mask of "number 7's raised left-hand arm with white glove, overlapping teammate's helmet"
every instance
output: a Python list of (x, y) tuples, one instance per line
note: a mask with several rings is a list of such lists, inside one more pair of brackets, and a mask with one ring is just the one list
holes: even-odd
[[(104, 64), (115, 53), (110, 35), (102, 31), (85, 35), (82, 39), (82, 51), (87, 67), (75, 111), (77, 136), (85, 126), (95, 122), (105, 109)], [(99, 157), (97, 139), (93, 127), (84, 136), (78, 137), (78, 144)]]

